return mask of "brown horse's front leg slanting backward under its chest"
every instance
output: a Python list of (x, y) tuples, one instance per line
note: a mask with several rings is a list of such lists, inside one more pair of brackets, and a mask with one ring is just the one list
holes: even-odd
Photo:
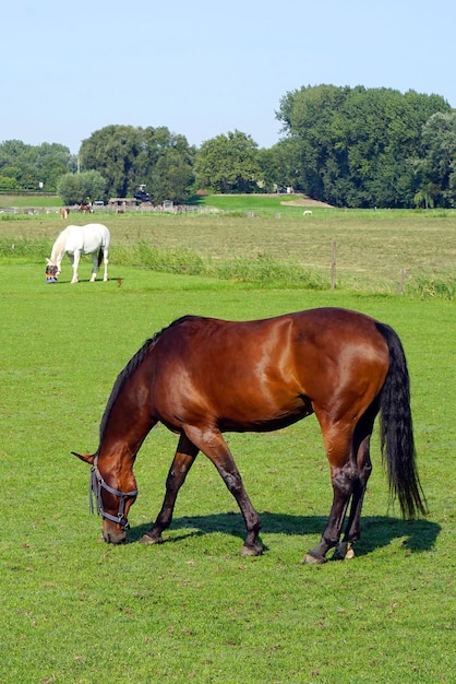
[(239, 470), (221, 434), (213, 427), (200, 429), (194, 426), (188, 426), (185, 431), (191, 440), (214, 463), (241, 510), (247, 528), (247, 536), (241, 554), (244, 556), (261, 555), (263, 546), (259, 541), (260, 517), (245, 492)]

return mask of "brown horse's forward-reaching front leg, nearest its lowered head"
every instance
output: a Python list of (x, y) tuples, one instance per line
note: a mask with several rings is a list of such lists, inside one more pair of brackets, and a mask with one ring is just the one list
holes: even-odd
[(172, 520), (176, 499), (180, 487), (183, 485), (189, 470), (197, 456), (199, 448), (181, 435), (178, 448), (166, 480), (166, 494), (161, 510), (153, 527), (141, 538), (146, 544), (159, 544), (163, 542), (161, 532), (169, 528)]

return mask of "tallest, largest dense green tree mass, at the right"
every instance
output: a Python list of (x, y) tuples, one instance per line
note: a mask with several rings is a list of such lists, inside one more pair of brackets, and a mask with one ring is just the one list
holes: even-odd
[(302, 189), (336, 205), (410, 207), (421, 130), (437, 95), (319, 85), (287, 93), (277, 118), (299, 149)]

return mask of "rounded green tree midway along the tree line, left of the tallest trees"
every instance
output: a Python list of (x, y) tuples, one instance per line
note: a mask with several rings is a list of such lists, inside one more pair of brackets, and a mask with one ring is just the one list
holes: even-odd
[(203, 142), (195, 157), (196, 185), (214, 192), (254, 192), (263, 181), (257, 144), (235, 130)]

